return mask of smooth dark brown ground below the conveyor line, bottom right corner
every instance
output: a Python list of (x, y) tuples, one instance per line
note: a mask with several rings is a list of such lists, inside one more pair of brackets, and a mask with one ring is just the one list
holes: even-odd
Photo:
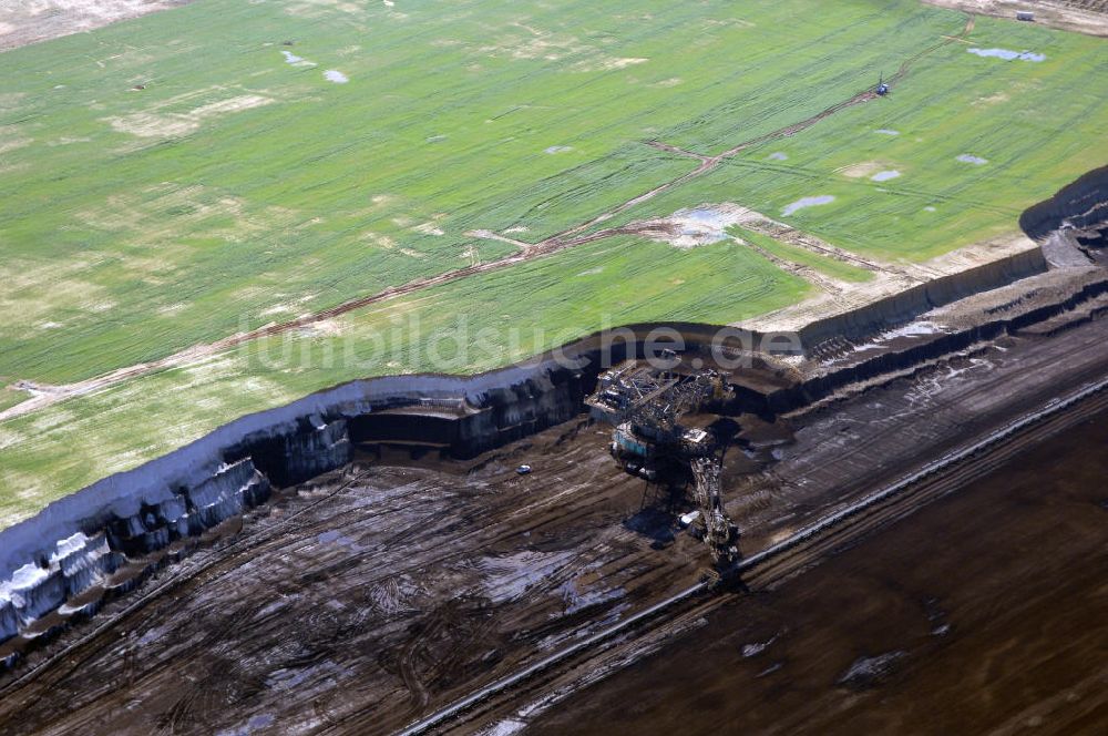
[(1106, 443), (1100, 415), (526, 733), (1102, 733)]

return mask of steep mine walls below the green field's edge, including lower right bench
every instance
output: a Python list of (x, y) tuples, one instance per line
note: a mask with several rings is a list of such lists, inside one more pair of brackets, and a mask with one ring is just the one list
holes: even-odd
[[(1027, 226), (1057, 222), (1067, 212), (1086, 212), (1097, 198), (1095, 192), (1104, 186), (1104, 172), (1083, 177), (1051, 204), (1033, 207), (1025, 217)], [(665, 343), (676, 337), (674, 347), (685, 349), (721, 344), (750, 351), (758, 360), (759, 352), (803, 351), (829, 337), (872, 334), (1044, 268), (1037, 249), (1016, 254), (935, 279), (850, 315), (820, 320), (801, 330), (799, 340), (796, 335), (780, 339), (780, 335), (737, 328), (728, 328), (726, 338), (719, 340), (720, 328), (711, 325), (629, 325), (478, 376), (356, 380), (243, 417), (0, 531), (0, 642), (103, 583), (126, 560), (196, 538), (265, 502), (271, 485), (293, 485), (348, 463), (357, 442), (407, 440), (439, 447), (456, 457), (472, 457), (579, 415), (599, 371), (626, 357), (642, 356), (652, 340)], [(849, 384), (995, 338), (1106, 292), (1108, 280), (1092, 280), (1056, 304), (997, 316), (970, 329), (843, 364), (825, 375), (777, 388), (740, 388), (730, 409), (789, 411)], [(443, 407), (452, 407), (453, 413)]]

